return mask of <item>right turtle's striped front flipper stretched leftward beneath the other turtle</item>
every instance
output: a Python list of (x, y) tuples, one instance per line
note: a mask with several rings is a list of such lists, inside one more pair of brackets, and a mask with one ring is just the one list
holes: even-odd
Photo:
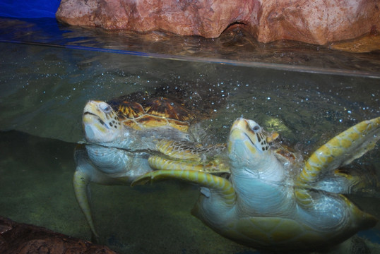
[(157, 170), (152, 171), (143, 176), (138, 177), (131, 183), (131, 186), (136, 184), (145, 184), (148, 182), (164, 180), (164, 179), (179, 179), (190, 183), (198, 184), (199, 186), (210, 188), (213, 191), (218, 191), (225, 199), (226, 203), (234, 203), (235, 191), (232, 183), (220, 176), (214, 176), (205, 172), (196, 170)]

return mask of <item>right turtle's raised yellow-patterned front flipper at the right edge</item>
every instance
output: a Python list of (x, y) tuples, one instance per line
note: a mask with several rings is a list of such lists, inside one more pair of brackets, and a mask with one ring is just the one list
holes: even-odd
[(372, 150), (380, 138), (380, 117), (357, 123), (319, 147), (299, 174), (299, 183), (314, 183), (328, 171), (349, 164)]

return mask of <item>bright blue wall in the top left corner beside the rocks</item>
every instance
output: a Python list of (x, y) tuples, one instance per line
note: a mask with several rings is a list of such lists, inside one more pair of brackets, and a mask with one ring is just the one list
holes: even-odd
[(0, 0), (0, 16), (55, 18), (61, 0)]

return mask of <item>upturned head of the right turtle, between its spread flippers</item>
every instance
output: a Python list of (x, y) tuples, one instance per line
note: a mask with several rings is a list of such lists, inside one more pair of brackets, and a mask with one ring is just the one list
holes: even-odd
[(239, 118), (232, 124), (228, 138), (228, 154), (231, 170), (252, 171), (266, 163), (269, 145), (263, 129), (253, 120)]

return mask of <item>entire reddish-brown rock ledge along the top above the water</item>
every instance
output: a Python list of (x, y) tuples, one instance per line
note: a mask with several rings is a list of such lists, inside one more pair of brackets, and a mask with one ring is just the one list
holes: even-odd
[(379, 29), (379, 8), (376, 0), (62, 0), (56, 16), (70, 25), (207, 38), (240, 23), (259, 42), (326, 44)]

